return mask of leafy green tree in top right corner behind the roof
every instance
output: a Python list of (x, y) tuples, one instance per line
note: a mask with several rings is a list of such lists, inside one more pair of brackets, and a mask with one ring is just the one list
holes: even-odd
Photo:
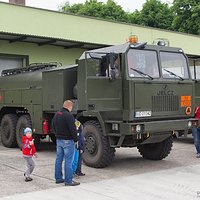
[(200, 1), (174, 0), (175, 18), (172, 27), (176, 31), (200, 35)]

